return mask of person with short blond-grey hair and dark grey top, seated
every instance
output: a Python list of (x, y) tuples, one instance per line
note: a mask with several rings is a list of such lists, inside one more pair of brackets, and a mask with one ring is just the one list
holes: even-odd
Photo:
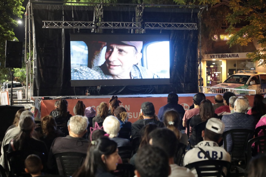
[[(69, 135), (66, 137), (57, 137), (52, 143), (47, 166), (55, 170), (55, 161), (53, 155), (60, 152), (80, 152), (86, 154), (89, 141), (82, 138), (87, 132), (88, 118), (85, 116), (73, 116), (70, 118), (68, 130)], [(58, 169), (62, 171), (62, 169)]]

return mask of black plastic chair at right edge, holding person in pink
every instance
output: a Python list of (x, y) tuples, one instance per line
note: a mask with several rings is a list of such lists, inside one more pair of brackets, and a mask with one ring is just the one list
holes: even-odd
[[(255, 145), (254, 147), (253, 144)], [(252, 138), (247, 142), (247, 163), (244, 166), (237, 166), (236, 168), (240, 172), (243, 172), (245, 176), (247, 176), (248, 163), (250, 162), (251, 158), (257, 154), (266, 154), (266, 135)]]

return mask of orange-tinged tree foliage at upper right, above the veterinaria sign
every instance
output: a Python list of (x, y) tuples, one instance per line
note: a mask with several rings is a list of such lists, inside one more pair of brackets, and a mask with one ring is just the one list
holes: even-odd
[[(231, 0), (230, 8), (233, 11), (227, 15), (230, 27), (227, 29), (233, 36), (227, 42), (230, 47), (235, 44), (247, 45), (257, 41), (260, 48), (247, 54), (253, 61), (259, 61), (259, 66), (266, 66), (266, 1), (265, 0)], [(248, 25), (237, 30), (238, 23)]]

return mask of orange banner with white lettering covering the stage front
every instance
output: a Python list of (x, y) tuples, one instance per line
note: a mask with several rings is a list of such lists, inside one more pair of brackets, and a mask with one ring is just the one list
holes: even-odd
[[(190, 94), (191, 95), (191, 94)], [(249, 103), (253, 105), (253, 97), (254, 96), (247, 96), (249, 99)], [(130, 122), (135, 122), (138, 120), (141, 104), (146, 101), (150, 101), (153, 103), (155, 107), (156, 114), (160, 107), (167, 104), (167, 97), (128, 97), (128, 98), (119, 98), (118, 99), (122, 102), (121, 106), (123, 106), (128, 112), (128, 120)], [(206, 94), (206, 99), (210, 100), (214, 103), (214, 96), (208, 97)], [(105, 101), (106, 103), (109, 102), (109, 98), (84, 98), (84, 99), (67, 99), (68, 101), (68, 109), (70, 114), (74, 115), (73, 108), (77, 104), (77, 101), (83, 101), (86, 107), (92, 106), (95, 110), (98, 110), (98, 105)], [(49, 115), (53, 109), (55, 109), (54, 104), (56, 100), (42, 100), (41, 101), (41, 117)], [(193, 104), (193, 98), (189, 97), (179, 97), (178, 103), (184, 107), (185, 110), (189, 109), (189, 106)]]

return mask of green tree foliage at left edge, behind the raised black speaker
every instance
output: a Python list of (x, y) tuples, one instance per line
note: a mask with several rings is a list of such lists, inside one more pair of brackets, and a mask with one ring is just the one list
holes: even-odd
[(9, 68), (5, 68), (6, 40), (14, 40), (13, 27), (17, 21), (12, 17), (22, 18), (24, 7), (23, 0), (2, 0), (0, 1), (0, 82), (11, 80)]

